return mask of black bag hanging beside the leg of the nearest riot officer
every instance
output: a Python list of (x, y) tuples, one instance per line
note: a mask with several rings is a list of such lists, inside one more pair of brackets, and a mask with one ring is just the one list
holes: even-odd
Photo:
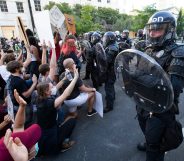
[(165, 133), (160, 145), (161, 151), (176, 149), (183, 142), (182, 125), (179, 121), (173, 121), (169, 127), (166, 127)]

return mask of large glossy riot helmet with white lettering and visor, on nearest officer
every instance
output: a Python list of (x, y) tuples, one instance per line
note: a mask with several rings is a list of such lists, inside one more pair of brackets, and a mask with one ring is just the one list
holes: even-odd
[(146, 24), (146, 38), (153, 47), (163, 47), (176, 38), (176, 19), (168, 11), (153, 14)]

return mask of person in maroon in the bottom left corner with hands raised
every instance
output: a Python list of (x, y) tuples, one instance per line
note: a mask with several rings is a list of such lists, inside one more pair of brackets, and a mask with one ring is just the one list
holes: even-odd
[[(24, 130), (25, 108), (27, 103), (24, 101), (24, 99), (21, 96), (19, 96), (16, 90), (14, 90), (14, 97), (19, 104), (19, 108), (13, 125), (13, 133), (11, 133), (11, 131), (8, 130), (5, 137), (0, 139), (1, 161), (14, 160), (14, 157), (18, 152), (19, 148), (16, 149), (16, 151), (14, 148), (11, 148), (11, 144), (13, 141), (19, 145), (21, 141), (22, 144), (24, 144), (24, 146), (26, 147), (26, 150), (30, 151), (29, 160), (32, 159), (32, 157), (35, 156), (35, 153), (32, 153), (34, 151), (34, 146), (38, 142), (41, 136), (41, 129), (37, 124), (33, 124), (26, 130)], [(12, 146), (15, 146), (15, 145), (13, 144)], [(18, 159), (15, 159), (15, 160), (18, 161)]]

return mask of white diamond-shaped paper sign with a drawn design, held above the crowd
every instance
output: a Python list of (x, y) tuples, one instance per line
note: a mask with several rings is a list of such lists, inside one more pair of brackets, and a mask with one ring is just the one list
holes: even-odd
[(63, 13), (59, 10), (57, 6), (52, 7), (49, 12), (51, 24), (57, 27), (58, 29), (61, 28), (65, 21), (65, 16), (63, 15)]

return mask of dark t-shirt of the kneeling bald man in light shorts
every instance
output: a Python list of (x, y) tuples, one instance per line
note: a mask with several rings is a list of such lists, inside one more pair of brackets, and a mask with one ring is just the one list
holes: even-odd
[[(68, 79), (66, 79), (64, 81), (63, 86), (62, 86), (63, 91), (68, 87), (69, 84), (70, 84), (70, 81)], [(72, 93), (70, 94), (70, 96), (67, 98), (67, 100), (71, 100), (71, 99), (74, 99), (77, 96), (79, 96), (79, 94), (80, 94), (79, 87), (81, 87), (82, 85), (83, 85), (82, 80), (80, 78), (78, 78), (78, 80), (77, 80), (77, 82), (75, 84), (75, 87), (74, 87)]]

